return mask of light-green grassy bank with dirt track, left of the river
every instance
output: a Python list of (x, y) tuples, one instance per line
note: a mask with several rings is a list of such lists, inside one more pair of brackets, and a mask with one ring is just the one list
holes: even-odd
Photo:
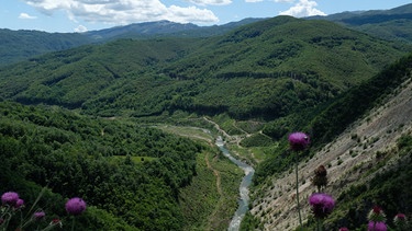
[(242, 176), (243, 171), (218, 150), (200, 153), (197, 176), (179, 194), (183, 230), (225, 230), (237, 209)]

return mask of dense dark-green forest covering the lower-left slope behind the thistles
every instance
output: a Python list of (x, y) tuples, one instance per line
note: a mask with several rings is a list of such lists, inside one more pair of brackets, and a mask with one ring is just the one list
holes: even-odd
[(81, 196), (90, 205), (81, 226), (93, 230), (183, 227), (179, 190), (197, 175), (202, 145), (58, 107), (0, 105), (4, 192), (34, 203), (47, 186), (40, 205), (52, 217), (64, 215), (58, 201)]

